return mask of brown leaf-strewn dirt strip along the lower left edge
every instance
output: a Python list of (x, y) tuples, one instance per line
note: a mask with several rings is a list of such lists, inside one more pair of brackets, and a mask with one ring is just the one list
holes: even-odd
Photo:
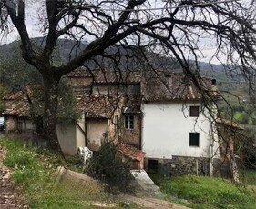
[(19, 189), (9, 179), (11, 171), (3, 164), (5, 154), (5, 149), (0, 146), (0, 208), (28, 208), (26, 204), (23, 204)]

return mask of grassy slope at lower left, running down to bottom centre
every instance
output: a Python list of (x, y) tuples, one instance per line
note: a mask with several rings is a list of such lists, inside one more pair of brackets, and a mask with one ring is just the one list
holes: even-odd
[(32, 209), (141, 208), (110, 199), (95, 182), (64, 175), (55, 184), (56, 167), (63, 161), (47, 150), (26, 146), (19, 139), (4, 138), (0, 144), (7, 149), (4, 164), (13, 170), (11, 179), (23, 188)]

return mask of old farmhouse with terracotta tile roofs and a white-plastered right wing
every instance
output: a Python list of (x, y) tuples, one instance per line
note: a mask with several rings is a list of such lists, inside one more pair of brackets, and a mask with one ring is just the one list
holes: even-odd
[[(57, 125), (65, 154), (77, 154), (79, 146), (97, 151), (108, 138), (121, 141), (118, 149), (134, 161), (134, 168), (155, 171), (167, 166), (170, 174), (217, 172), (220, 154), (210, 104), (206, 108), (210, 101), (184, 75), (79, 68), (67, 76), (67, 82), (82, 115), (77, 121)], [(201, 85), (216, 94), (210, 79)], [(5, 102), (6, 132), (35, 128), (24, 94), (6, 96)]]

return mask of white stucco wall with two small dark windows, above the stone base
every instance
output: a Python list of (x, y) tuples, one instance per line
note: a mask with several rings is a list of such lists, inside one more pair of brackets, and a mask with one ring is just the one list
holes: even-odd
[[(200, 113), (189, 117), (189, 106), (200, 103), (144, 104), (142, 149), (147, 158), (172, 155), (210, 157), (210, 121)], [(189, 133), (200, 133), (200, 146), (189, 146)]]

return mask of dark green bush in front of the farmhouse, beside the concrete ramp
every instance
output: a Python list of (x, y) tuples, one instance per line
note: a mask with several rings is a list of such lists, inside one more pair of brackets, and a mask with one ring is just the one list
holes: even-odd
[(98, 153), (94, 154), (89, 161), (85, 172), (106, 184), (106, 188), (110, 189), (109, 192), (113, 192), (115, 189), (127, 191), (132, 179), (128, 162), (123, 162), (117, 157), (117, 152), (113, 142), (104, 142)]

